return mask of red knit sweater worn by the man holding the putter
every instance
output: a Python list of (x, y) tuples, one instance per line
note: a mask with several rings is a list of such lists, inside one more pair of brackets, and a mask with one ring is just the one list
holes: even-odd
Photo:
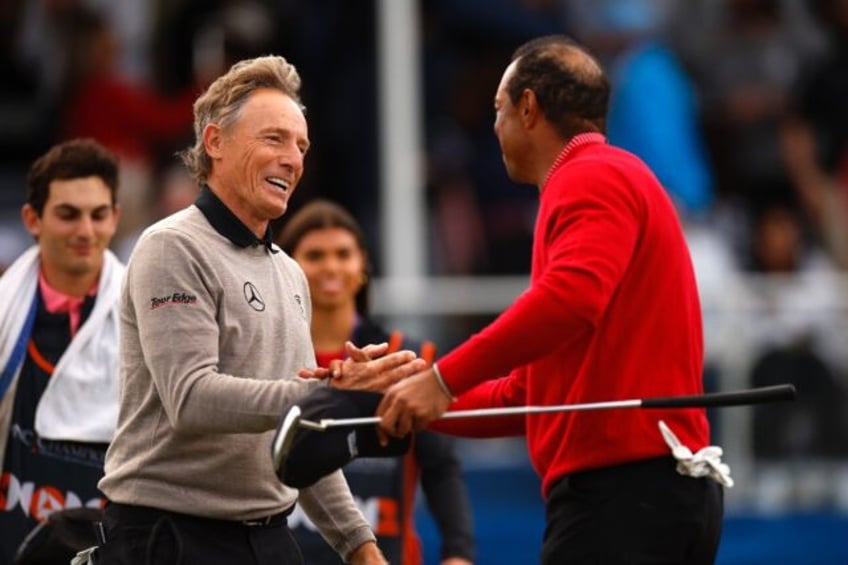
[[(461, 394), (451, 410), (697, 394), (701, 325), (689, 252), (662, 186), (637, 157), (584, 134), (542, 187), (529, 289), (438, 366)], [(547, 495), (568, 473), (668, 454), (660, 419), (692, 450), (709, 442), (702, 409), (443, 420), (433, 427), (471, 436), (526, 433)]]

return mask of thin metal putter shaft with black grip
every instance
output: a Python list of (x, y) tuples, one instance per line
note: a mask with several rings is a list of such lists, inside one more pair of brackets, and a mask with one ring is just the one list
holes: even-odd
[[(586, 410), (609, 410), (613, 408), (705, 408), (720, 406), (742, 406), (763, 404), (766, 402), (781, 402), (795, 398), (795, 387), (792, 385), (775, 385), (734, 392), (713, 392), (709, 394), (693, 394), (688, 396), (662, 396), (656, 398), (633, 400), (610, 400), (607, 402), (588, 402), (585, 404), (558, 404), (555, 406), (509, 406), (505, 408), (479, 408), (475, 410), (456, 410), (445, 412), (440, 419), (453, 420), (456, 418), (485, 418), (492, 416), (517, 416), (527, 414), (545, 414), (550, 412), (579, 412)], [(380, 423), (379, 416), (363, 418), (332, 419), (325, 418), (320, 422), (301, 420), (300, 425), (307, 429), (324, 430), (340, 426), (367, 426)]]

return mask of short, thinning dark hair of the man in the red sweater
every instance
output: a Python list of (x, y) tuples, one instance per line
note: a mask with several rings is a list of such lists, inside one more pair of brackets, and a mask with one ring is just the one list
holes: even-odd
[(588, 51), (564, 35), (548, 35), (520, 46), (512, 61), (518, 62), (506, 91), (513, 104), (529, 89), (564, 138), (606, 132), (610, 84)]

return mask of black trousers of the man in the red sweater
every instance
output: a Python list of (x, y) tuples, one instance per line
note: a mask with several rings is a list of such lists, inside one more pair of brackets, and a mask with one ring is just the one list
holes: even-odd
[(560, 479), (546, 505), (542, 564), (713, 563), (724, 491), (675, 465), (661, 457)]

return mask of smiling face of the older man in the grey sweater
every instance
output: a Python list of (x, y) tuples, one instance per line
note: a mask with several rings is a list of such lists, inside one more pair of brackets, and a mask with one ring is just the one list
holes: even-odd
[(259, 89), (232, 124), (210, 124), (204, 132), (212, 158), (209, 185), (258, 237), (282, 216), (303, 175), (309, 148), (300, 106), (274, 89)]

